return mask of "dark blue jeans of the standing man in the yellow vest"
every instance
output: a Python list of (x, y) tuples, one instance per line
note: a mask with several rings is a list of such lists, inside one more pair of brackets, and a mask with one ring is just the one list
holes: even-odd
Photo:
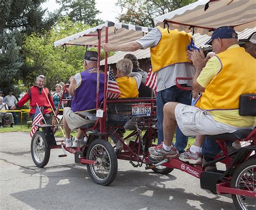
[[(188, 87), (187, 85), (181, 85)], [(191, 105), (191, 91), (181, 90), (177, 86), (172, 86), (157, 93), (157, 129), (158, 129), (158, 144), (164, 141), (163, 121), (164, 121), (164, 104), (167, 102), (178, 102)], [(184, 152), (187, 146), (188, 137), (185, 136), (177, 127), (176, 142), (174, 146), (179, 152)]]

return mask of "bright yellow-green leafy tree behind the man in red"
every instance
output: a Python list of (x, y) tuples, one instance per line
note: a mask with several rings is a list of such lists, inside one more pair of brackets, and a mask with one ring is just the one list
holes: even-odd
[(53, 42), (86, 30), (89, 25), (73, 23), (70, 19), (59, 19), (58, 23), (44, 35), (33, 33), (27, 36), (23, 45), (26, 55), (21, 78), (26, 87), (35, 83), (38, 74), (46, 76), (46, 86), (53, 89), (58, 82), (68, 82), (70, 76), (83, 71), (85, 47), (68, 46), (65, 49), (53, 47)]

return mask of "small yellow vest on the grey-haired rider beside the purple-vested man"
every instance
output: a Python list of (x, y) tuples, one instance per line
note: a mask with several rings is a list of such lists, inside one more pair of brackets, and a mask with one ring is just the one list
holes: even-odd
[(137, 82), (134, 78), (122, 76), (121, 78), (117, 78), (116, 81), (121, 92), (120, 98), (129, 99), (139, 96)]

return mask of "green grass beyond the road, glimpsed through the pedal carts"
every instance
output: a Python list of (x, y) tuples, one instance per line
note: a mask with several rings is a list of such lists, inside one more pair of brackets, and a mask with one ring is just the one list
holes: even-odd
[[(1, 132), (30, 132), (31, 128), (28, 128), (28, 125), (14, 125), (14, 128), (10, 128), (10, 126), (6, 125), (3, 128), (0, 128), (0, 133)], [(132, 130), (126, 130), (124, 137), (128, 136), (129, 134), (131, 134)], [(142, 132), (142, 135), (144, 135), (145, 131)], [(76, 136), (76, 132), (71, 132), (72, 136)], [(56, 133), (55, 133), (55, 137), (63, 137), (62, 131), (59, 129)], [(131, 138), (129, 138), (127, 141), (125, 141), (126, 143), (129, 143), (130, 141), (135, 141), (136, 136), (132, 136)], [(176, 138), (174, 137), (173, 142), (176, 141)], [(193, 145), (194, 144), (194, 138), (189, 137), (188, 138), (188, 145)]]

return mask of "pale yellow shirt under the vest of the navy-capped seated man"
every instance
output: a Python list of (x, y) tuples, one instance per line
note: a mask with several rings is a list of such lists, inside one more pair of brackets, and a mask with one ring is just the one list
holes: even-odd
[[(239, 47), (239, 45), (232, 45), (228, 47), (228, 49), (237, 48), (237, 47)], [(221, 65), (222, 65), (221, 61), (217, 56), (214, 56), (211, 59), (209, 59), (206, 66), (203, 68), (203, 70), (201, 71), (200, 75), (197, 78), (197, 82), (199, 83), (199, 85), (206, 88), (221, 70), (221, 67), (222, 67)], [(254, 76), (255, 78), (255, 74), (251, 76)], [(255, 86), (255, 84), (252, 84), (252, 85)], [(210, 113), (213, 115), (213, 118), (215, 121), (232, 125), (233, 127), (246, 128), (246, 127), (252, 127), (253, 125), (255, 126), (256, 124), (256, 117), (240, 116), (238, 109), (210, 110)]]

